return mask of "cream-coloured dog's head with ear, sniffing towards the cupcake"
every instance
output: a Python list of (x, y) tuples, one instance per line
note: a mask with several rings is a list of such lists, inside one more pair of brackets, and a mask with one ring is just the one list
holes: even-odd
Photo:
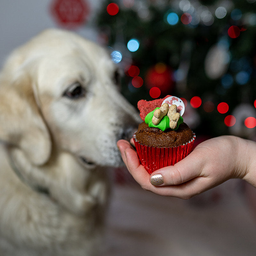
[(100, 46), (46, 30), (13, 52), (0, 81), (0, 139), (46, 163), (54, 147), (87, 167), (121, 163), (116, 141), (140, 118), (118, 92), (119, 71)]

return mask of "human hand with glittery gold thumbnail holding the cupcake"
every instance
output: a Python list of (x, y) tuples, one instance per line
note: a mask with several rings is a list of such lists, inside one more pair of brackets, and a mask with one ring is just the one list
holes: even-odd
[(256, 143), (250, 140), (235, 136), (206, 140), (174, 166), (151, 175), (128, 141), (119, 140), (117, 146), (133, 178), (143, 189), (158, 195), (188, 199), (232, 178), (256, 186)]

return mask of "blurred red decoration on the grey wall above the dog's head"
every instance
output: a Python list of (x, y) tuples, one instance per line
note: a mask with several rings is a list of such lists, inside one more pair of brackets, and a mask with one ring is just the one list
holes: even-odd
[(61, 26), (76, 28), (87, 21), (90, 7), (84, 0), (54, 0), (51, 12)]

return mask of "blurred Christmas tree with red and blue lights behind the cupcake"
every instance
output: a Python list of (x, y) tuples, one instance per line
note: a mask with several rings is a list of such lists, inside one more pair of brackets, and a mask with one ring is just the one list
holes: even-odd
[(255, 10), (254, 0), (106, 1), (97, 26), (134, 106), (175, 95), (187, 102), (198, 134), (252, 138)]

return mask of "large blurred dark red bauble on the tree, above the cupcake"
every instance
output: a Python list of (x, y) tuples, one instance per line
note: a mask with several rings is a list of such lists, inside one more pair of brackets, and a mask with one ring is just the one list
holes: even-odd
[(172, 69), (164, 63), (157, 63), (148, 70), (146, 86), (149, 90), (153, 87), (158, 87), (162, 94), (167, 94), (172, 91), (173, 85)]

